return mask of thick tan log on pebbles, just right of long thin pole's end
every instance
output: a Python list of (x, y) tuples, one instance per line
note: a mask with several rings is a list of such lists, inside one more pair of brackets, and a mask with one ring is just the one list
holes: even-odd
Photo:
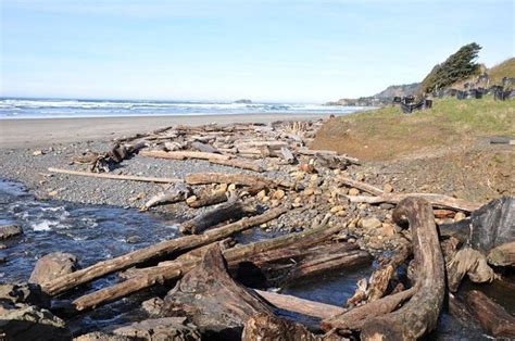
[(197, 173), (188, 174), (185, 178), (189, 185), (209, 185), (209, 184), (236, 184), (249, 187), (291, 188), (291, 184), (276, 181), (274, 179), (258, 177), (248, 174), (224, 174), (224, 173)]

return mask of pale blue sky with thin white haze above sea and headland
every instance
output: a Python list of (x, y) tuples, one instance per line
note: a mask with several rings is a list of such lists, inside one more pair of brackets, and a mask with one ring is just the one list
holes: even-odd
[(325, 102), (515, 55), (513, 0), (0, 2), (3, 97)]

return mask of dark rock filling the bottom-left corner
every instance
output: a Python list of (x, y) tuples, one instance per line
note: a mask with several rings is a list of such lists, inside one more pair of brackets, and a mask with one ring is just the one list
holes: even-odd
[(64, 321), (45, 308), (0, 302), (0, 339), (70, 340)]

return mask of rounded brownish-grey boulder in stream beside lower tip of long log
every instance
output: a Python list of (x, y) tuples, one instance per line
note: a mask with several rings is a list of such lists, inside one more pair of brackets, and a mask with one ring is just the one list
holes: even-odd
[(52, 252), (36, 262), (36, 266), (28, 281), (41, 285), (60, 276), (71, 274), (77, 268), (77, 257), (75, 255), (71, 253)]

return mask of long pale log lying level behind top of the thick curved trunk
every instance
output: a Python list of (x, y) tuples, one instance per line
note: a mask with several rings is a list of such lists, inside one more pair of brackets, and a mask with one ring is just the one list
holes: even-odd
[(406, 198), (419, 198), (427, 200), (434, 207), (451, 209), (464, 212), (473, 212), (480, 206), (479, 204), (468, 202), (463, 199), (435, 193), (385, 193), (378, 197), (347, 195), (347, 198), (349, 198), (351, 202), (364, 202), (369, 204), (378, 204), (382, 202), (397, 204)]

